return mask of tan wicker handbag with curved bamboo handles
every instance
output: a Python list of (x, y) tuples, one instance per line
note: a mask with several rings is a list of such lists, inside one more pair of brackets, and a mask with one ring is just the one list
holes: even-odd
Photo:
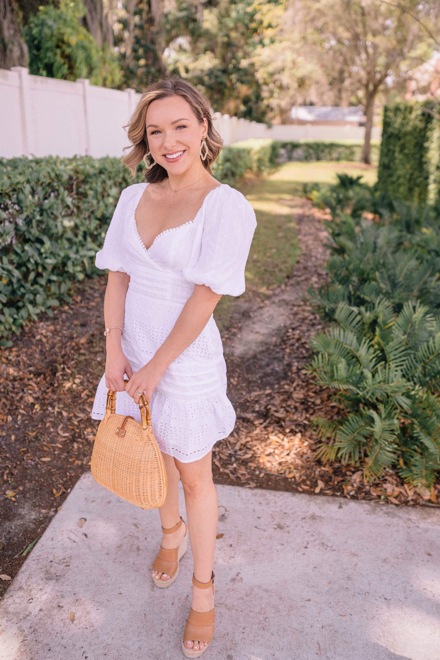
[(150, 406), (143, 392), (139, 409), (142, 424), (131, 415), (116, 414), (116, 392), (109, 389), (106, 414), (96, 432), (90, 469), (98, 484), (123, 500), (144, 510), (156, 509), (164, 504), (167, 476), (151, 426)]

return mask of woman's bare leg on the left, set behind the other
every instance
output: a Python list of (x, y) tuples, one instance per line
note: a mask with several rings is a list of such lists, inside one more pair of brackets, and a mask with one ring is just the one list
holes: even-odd
[[(160, 522), (164, 529), (170, 529), (174, 527), (180, 520), (179, 514), (179, 491), (177, 486), (179, 486), (180, 475), (179, 471), (175, 467), (174, 459), (172, 456), (163, 453), (165, 461), (166, 475), (168, 478), (168, 489), (166, 493), (166, 498), (164, 504), (159, 508)], [(162, 535), (162, 548), (167, 550), (171, 548), (177, 548), (183, 537), (185, 536), (186, 527), (185, 525), (180, 525), (177, 531), (172, 534), (163, 534)], [(160, 571), (152, 571), (153, 578), (167, 580), (170, 579), (170, 576)], [(156, 577), (157, 576), (157, 577)]]

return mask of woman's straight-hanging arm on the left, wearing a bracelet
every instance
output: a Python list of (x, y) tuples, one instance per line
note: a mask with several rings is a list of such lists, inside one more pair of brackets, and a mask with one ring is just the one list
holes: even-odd
[[(106, 328), (112, 325), (123, 327), (125, 315), (125, 296), (129, 287), (130, 276), (120, 271), (109, 271), (104, 296), (104, 323)], [(121, 347), (121, 331), (111, 330), (106, 336), (106, 387), (115, 392), (125, 389), (124, 374), (133, 376), (131, 364)]]

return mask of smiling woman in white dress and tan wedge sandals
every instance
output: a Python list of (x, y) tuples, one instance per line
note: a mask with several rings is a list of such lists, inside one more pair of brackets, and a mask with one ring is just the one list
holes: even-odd
[[(143, 159), (146, 182), (122, 191), (96, 254), (96, 266), (110, 271), (104, 299), (110, 330), (92, 418), (104, 416), (108, 389), (117, 392), (118, 414), (141, 421), (142, 391), (150, 403), (168, 475), (152, 579), (158, 587), (173, 583), (189, 533), (193, 600), (182, 649), (186, 657), (198, 657), (214, 631), (218, 502), (212, 446), (236, 422), (212, 312), (223, 295), (245, 290), (257, 222), (245, 197), (211, 174), (222, 139), (208, 100), (189, 82), (172, 78), (150, 85), (128, 126), (133, 148), (122, 162), (134, 177)], [(179, 514), (179, 480), (188, 525)]]

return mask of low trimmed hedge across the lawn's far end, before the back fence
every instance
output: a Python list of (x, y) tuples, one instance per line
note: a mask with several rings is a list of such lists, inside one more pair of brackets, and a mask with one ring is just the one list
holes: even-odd
[[(350, 160), (361, 162), (363, 142), (341, 141), (276, 141), (280, 160)], [(379, 160), (380, 142), (371, 143), (371, 160)]]

